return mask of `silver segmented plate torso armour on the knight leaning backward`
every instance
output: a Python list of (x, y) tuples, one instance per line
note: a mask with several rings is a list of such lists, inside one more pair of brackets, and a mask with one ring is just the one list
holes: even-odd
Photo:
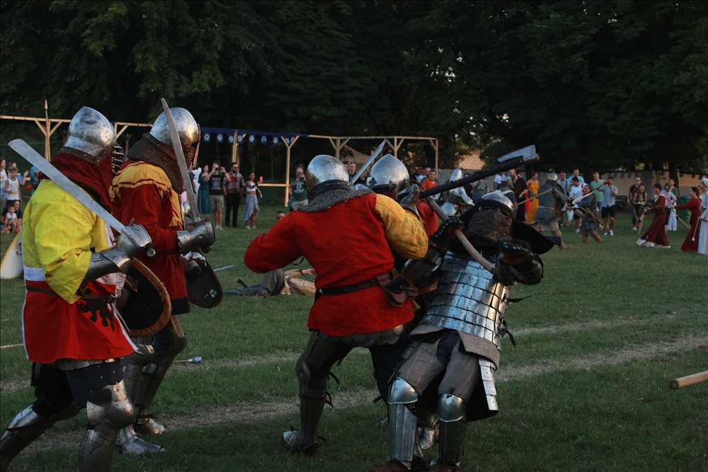
[[(489, 261), (496, 263), (496, 258)], [(462, 331), (499, 348), (509, 289), (469, 255), (449, 251), (440, 269), (435, 299), (421, 324)]]

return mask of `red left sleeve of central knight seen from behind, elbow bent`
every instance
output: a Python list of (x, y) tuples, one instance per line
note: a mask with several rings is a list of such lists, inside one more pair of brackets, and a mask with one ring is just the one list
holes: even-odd
[(251, 241), (244, 254), (244, 263), (253, 272), (265, 274), (282, 269), (297, 259), (301, 253), (295, 243), (295, 213), (285, 215), (266, 234), (259, 234)]

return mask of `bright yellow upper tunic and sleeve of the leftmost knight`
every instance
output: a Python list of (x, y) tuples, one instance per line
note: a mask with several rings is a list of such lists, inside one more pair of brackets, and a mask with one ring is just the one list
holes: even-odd
[(103, 251), (108, 246), (105, 224), (55, 183), (43, 185), (25, 216), (31, 239), (25, 246), (25, 265), (41, 267), (52, 290), (74, 303), (89, 270), (91, 248)]

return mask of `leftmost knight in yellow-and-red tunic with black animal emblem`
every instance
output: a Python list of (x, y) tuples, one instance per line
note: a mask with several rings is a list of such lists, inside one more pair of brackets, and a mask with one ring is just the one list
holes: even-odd
[[(110, 209), (114, 146), (113, 125), (84, 107), (69, 123), (67, 142), (52, 164)], [(40, 175), (23, 228), (23, 342), (33, 362), (37, 400), (0, 438), (0, 471), (47, 428), (83, 408), (89, 425), (79, 449), (79, 471), (110, 470), (118, 431), (135, 418), (119, 362), (135, 352), (135, 345), (115, 299), (130, 261), (151, 245), (142, 226), (130, 229), (114, 239), (102, 219)]]

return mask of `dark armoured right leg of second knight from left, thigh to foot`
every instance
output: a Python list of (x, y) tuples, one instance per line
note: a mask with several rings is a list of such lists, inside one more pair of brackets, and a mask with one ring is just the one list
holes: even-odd
[[(172, 338), (171, 342), (164, 342), (167, 338)], [(142, 379), (140, 379), (135, 393), (135, 408), (138, 417), (135, 422), (135, 430), (143, 434), (161, 434), (166, 431), (163, 425), (152, 418), (147, 418), (147, 415), (149, 415), (150, 405), (152, 405), (157, 390), (165, 379), (167, 370), (175, 357), (187, 347), (187, 335), (182, 329), (179, 315), (170, 316), (170, 323), (155, 336), (153, 345), (156, 352), (155, 359), (143, 369)]]

